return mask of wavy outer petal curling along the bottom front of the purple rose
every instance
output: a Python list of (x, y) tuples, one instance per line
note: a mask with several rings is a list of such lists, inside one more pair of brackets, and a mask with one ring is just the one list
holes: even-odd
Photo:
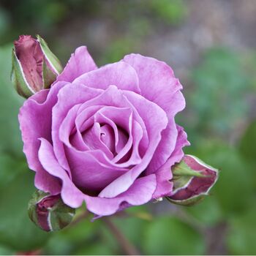
[(64, 169), (61, 168), (53, 153), (53, 147), (47, 140), (41, 139), (39, 148), (39, 159), (43, 167), (51, 175), (61, 178), (61, 197), (64, 203), (73, 208), (78, 208), (86, 201), (89, 211), (99, 216), (114, 214), (122, 204), (138, 206), (151, 200), (156, 189), (156, 178), (154, 174), (138, 178), (129, 189), (115, 198), (100, 198), (84, 195), (70, 180)]

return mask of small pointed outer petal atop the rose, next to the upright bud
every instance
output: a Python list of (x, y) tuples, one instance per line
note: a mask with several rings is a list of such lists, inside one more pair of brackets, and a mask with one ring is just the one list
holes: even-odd
[(97, 66), (91, 58), (86, 46), (80, 46), (75, 50), (75, 53), (72, 53), (67, 66), (56, 81), (72, 82), (80, 75), (94, 69), (97, 69)]

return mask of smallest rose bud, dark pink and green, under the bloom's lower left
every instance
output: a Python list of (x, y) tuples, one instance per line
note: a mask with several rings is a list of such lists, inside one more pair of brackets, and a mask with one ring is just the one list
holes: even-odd
[(29, 201), (29, 217), (45, 231), (57, 231), (69, 225), (75, 209), (65, 205), (60, 195), (38, 190)]

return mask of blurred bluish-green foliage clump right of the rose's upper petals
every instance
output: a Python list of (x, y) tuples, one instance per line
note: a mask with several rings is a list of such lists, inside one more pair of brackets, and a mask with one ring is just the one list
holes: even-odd
[(195, 132), (228, 136), (244, 121), (249, 109), (246, 96), (252, 92), (241, 56), (225, 48), (208, 50), (192, 79), (195, 89), (188, 104)]

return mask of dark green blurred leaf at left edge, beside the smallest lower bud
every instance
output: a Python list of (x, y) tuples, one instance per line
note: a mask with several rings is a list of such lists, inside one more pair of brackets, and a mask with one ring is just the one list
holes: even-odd
[(50, 233), (45, 233), (31, 222), (28, 201), (34, 192), (31, 171), (18, 175), (12, 183), (0, 189), (0, 243), (18, 251), (31, 251), (45, 244)]

